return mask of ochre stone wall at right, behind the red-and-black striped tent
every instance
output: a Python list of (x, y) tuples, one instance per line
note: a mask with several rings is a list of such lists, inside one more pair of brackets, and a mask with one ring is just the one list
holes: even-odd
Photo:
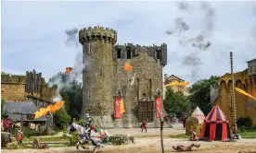
[[(256, 96), (256, 81), (253, 82), (253, 77), (248, 76), (248, 70), (238, 72), (234, 74), (235, 87), (241, 88), (252, 96)], [(251, 80), (251, 81), (248, 81)], [(232, 77), (230, 74), (221, 76), (218, 80), (219, 98), (216, 101), (221, 109), (224, 111), (228, 121), (234, 124), (233, 121), (233, 110), (232, 110)], [(235, 91), (235, 99), (237, 106), (237, 118), (250, 117), (252, 124), (256, 125), (256, 107), (249, 107), (250, 98)], [(254, 101), (255, 102), (255, 101)], [(254, 105), (256, 106), (256, 105)]]

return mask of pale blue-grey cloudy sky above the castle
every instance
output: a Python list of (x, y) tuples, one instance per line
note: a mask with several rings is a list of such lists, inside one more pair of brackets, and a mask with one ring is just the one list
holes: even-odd
[[(234, 52), (235, 71), (256, 58), (256, 2), (211, 2), (214, 16), (199, 2), (2, 2), (2, 71), (25, 74), (36, 69), (50, 77), (82, 56), (82, 46), (67, 46), (66, 29), (96, 26), (116, 29), (118, 43), (168, 44), (168, 65), (164, 73), (186, 81), (224, 75), (230, 71), (229, 52)], [(255, 11), (256, 12), (256, 11)], [(177, 32), (175, 18), (189, 25)], [(207, 26), (211, 24), (211, 29)], [(166, 30), (174, 30), (172, 35)], [(211, 41), (206, 51), (181, 40), (198, 34)], [(202, 65), (183, 65), (187, 56), (198, 56)], [(193, 71), (197, 76), (192, 76)]]

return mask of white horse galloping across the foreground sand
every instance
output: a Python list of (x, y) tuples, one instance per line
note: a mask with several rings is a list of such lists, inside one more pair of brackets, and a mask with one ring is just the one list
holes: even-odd
[(109, 137), (109, 133), (107, 131), (101, 129), (97, 131), (96, 126), (94, 125), (86, 129), (82, 125), (72, 123), (70, 125), (69, 134), (74, 131), (76, 131), (80, 137), (79, 142), (76, 144), (76, 148), (79, 149), (79, 146), (82, 146), (85, 142), (91, 141), (95, 146), (94, 152), (96, 151), (96, 148), (103, 147), (103, 139)]

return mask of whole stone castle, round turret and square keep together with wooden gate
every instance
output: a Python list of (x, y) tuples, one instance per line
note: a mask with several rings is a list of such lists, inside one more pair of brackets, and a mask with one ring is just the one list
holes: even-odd
[[(162, 67), (167, 65), (167, 45), (140, 46), (132, 43), (115, 45), (117, 32), (113, 29), (81, 29), (83, 45), (83, 112), (97, 102), (108, 108), (104, 124), (112, 127), (134, 127), (143, 120), (158, 125), (155, 119), (155, 97), (162, 97)], [(125, 63), (133, 66), (123, 70)], [(113, 119), (115, 98), (122, 92), (125, 113)], [(94, 114), (96, 118), (98, 114)]]

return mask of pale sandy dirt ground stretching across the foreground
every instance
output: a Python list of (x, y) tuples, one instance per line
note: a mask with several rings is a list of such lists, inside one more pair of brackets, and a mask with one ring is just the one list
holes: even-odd
[[(140, 129), (108, 129), (109, 134), (130, 134), (134, 135), (135, 144), (122, 145), (122, 146), (106, 146), (101, 147), (97, 153), (160, 153), (160, 129), (148, 128), (147, 133), (141, 133)], [(184, 134), (185, 130), (182, 125), (179, 124), (174, 128), (165, 128), (163, 130), (164, 135), (164, 150), (165, 152), (175, 152), (173, 145), (188, 146), (192, 142), (182, 138), (170, 138), (170, 135)], [(158, 135), (158, 136), (156, 136)], [(193, 148), (193, 151), (198, 153), (256, 153), (256, 139), (240, 139), (237, 142), (196, 142), (200, 144), (199, 148)], [(90, 149), (76, 147), (51, 147), (47, 149), (1, 149), (2, 153), (92, 153), (93, 147)]]

